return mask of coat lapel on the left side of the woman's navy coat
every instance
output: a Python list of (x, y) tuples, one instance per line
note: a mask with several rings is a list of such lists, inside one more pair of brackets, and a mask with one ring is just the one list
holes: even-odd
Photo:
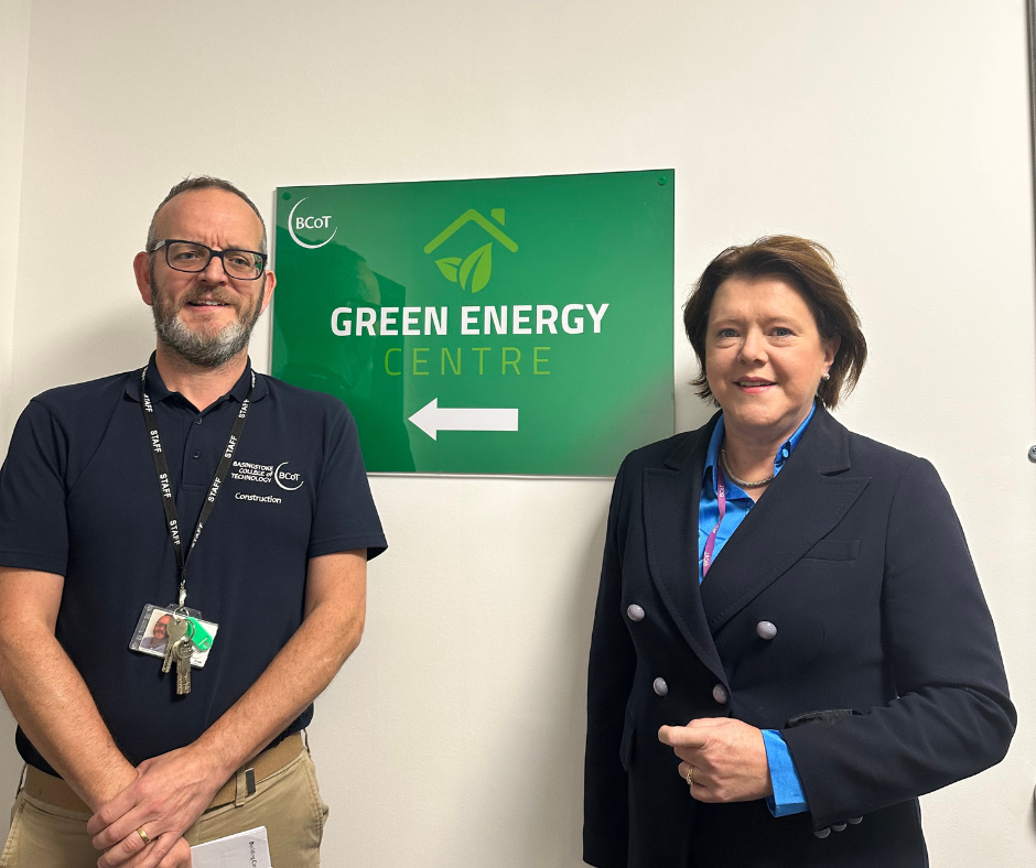
[(712, 422), (688, 435), (666, 467), (644, 471), (644, 527), (651, 578), (680, 633), (699, 659), (725, 682), (698, 585), (698, 501)]

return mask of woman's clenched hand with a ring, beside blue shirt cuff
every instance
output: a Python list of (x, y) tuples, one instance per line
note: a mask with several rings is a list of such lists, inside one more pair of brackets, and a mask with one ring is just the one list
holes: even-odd
[(751, 802), (774, 794), (763, 730), (729, 717), (703, 717), (687, 726), (663, 726), (658, 740), (681, 759), (699, 802)]

